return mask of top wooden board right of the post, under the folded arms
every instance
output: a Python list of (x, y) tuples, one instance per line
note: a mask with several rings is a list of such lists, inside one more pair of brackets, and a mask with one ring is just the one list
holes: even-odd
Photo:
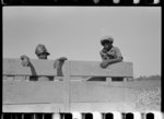
[(93, 76), (133, 76), (131, 62), (118, 62), (106, 69), (99, 67), (98, 61), (71, 61), (71, 75)]

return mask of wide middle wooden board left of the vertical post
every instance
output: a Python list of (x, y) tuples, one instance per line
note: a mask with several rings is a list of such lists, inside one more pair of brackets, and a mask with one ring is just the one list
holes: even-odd
[(63, 82), (5, 81), (2, 87), (2, 104), (63, 103)]

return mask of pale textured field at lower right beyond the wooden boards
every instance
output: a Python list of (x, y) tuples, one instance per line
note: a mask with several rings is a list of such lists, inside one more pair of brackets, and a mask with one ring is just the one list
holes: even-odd
[(137, 81), (142, 87), (137, 88), (137, 110), (161, 110), (161, 80)]

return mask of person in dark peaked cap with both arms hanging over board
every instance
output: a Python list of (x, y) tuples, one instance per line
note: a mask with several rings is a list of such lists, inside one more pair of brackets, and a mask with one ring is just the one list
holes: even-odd
[[(36, 46), (36, 49), (35, 49), (35, 55), (38, 57), (38, 59), (42, 59), (42, 60), (47, 60), (47, 57), (50, 55), (45, 45), (37, 45)], [(23, 55), (21, 56), (21, 60), (22, 60), (22, 66), (23, 67), (30, 67), (31, 70), (32, 70), (32, 73), (34, 73), (34, 75), (36, 75), (36, 72), (35, 72), (35, 69), (33, 67), (33, 64), (31, 63), (31, 60), (27, 56)], [(66, 57), (60, 57), (58, 59), (55, 60), (55, 63), (54, 63), (54, 68), (57, 69), (57, 76), (62, 76), (62, 71), (61, 71), (61, 67), (65, 62), (65, 60), (67, 60)], [(54, 80), (51, 79), (50, 76), (39, 76), (38, 79), (36, 76), (32, 76), (31, 80)]]

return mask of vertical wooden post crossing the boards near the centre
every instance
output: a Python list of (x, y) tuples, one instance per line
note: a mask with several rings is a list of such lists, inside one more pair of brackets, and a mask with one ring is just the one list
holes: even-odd
[(63, 111), (70, 111), (70, 61), (65, 62), (65, 74), (63, 74)]

